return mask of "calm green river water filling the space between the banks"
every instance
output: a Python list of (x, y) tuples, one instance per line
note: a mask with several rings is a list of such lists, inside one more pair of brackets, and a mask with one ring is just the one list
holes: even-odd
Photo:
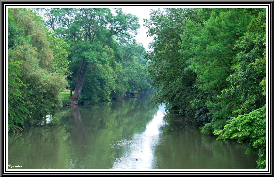
[(256, 169), (247, 144), (216, 140), (193, 124), (173, 126), (167, 116), (146, 95), (62, 108), (41, 126), (9, 135), (7, 163), (17, 170)]

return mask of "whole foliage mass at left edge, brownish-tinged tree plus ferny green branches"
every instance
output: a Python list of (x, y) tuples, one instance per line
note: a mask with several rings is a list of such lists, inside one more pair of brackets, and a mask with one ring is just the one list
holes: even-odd
[(68, 45), (48, 36), (31, 9), (10, 8), (8, 16), (8, 130), (14, 131), (62, 106)]

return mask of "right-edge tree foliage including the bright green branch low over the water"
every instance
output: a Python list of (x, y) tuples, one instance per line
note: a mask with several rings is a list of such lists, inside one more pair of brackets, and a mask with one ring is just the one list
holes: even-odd
[(237, 41), (242, 51), (235, 57), (231, 85), (220, 98), (237, 106), (229, 124), (215, 130), (218, 139), (249, 142), (246, 153), (258, 153), (258, 168), (266, 169), (266, 11), (257, 13), (247, 32)]

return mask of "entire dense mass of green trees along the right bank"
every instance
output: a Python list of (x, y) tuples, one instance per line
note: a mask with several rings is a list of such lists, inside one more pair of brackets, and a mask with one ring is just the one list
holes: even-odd
[[(164, 8), (145, 22), (155, 39), (146, 56), (155, 105), (165, 103), (169, 112), (203, 124), (203, 132), (221, 135), (242, 131), (235, 119), (265, 108), (266, 9)], [(260, 115), (262, 134), (244, 140), (252, 146), (266, 137), (266, 117)], [(226, 124), (230, 128), (224, 129)], [(263, 169), (266, 145), (260, 142), (258, 168)]]

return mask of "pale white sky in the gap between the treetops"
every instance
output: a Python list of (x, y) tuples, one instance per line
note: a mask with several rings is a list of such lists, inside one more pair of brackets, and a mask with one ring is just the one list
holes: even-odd
[(157, 10), (159, 7), (157, 6), (151, 6), (151, 7), (138, 7), (138, 6), (131, 6), (131, 7), (122, 7), (122, 11), (124, 13), (131, 13), (132, 15), (136, 15), (139, 18), (139, 24), (140, 28), (138, 30), (139, 34), (136, 36), (136, 40), (139, 43), (143, 44), (143, 47), (146, 49), (146, 51), (149, 51), (149, 42), (153, 40), (152, 37), (146, 37), (147, 29), (143, 26), (144, 19), (149, 19), (150, 9)]

